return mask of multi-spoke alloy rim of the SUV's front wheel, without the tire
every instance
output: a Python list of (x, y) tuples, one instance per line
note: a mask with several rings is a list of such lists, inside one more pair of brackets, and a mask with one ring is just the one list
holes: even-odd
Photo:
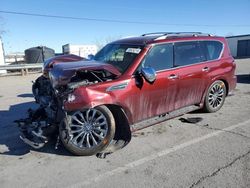
[(75, 112), (71, 116), (69, 129), (70, 141), (75, 146), (90, 149), (104, 140), (108, 123), (101, 111), (90, 108)]

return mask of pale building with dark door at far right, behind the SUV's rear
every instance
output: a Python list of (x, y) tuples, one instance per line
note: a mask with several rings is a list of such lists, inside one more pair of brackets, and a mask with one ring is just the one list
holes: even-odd
[(226, 37), (233, 57), (250, 57), (250, 34)]

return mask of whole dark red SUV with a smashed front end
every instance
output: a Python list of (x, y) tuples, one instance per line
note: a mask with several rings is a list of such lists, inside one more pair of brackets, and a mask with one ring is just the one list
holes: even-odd
[(21, 138), (38, 148), (46, 130), (59, 129), (76, 155), (111, 153), (132, 131), (193, 110), (216, 112), (236, 86), (225, 38), (203, 33), (144, 34), (107, 44), (92, 60), (61, 59), (48, 60), (49, 78), (33, 86), (42, 131), (32, 135), (25, 123)]

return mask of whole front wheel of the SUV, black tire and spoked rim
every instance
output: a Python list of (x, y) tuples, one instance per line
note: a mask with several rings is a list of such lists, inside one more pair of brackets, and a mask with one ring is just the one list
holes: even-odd
[[(89, 110), (89, 114), (91, 115), (92, 113), (93, 117), (91, 118), (91, 120), (87, 121), (87, 119), (89, 119), (89, 115), (87, 116), (88, 110)], [(75, 119), (78, 118), (78, 115), (79, 117), (81, 117), (80, 113), (84, 116), (85, 122), (89, 122), (89, 123), (84, 123), (82, 125), (79, 125), (78, 127), (79, 129), (75, 127), (76, 130), (72, 130), (74, 126), (76, 126), (72, 122), (74, 122)], [(98, 118), (101, 118), (101, 119), (98, 120)], [(94, 122), (97, 120), (98, 120), (98, 123), (94, 124)], [(100, 121), (103, 121), (103, 122), (100, 123)], [(102, 126), (104, 125), (101, 125), (101, 124), (104, 124), (105, 128), (103, 128)], [(80, 128), (80, 126), (82, 126), (82, 128)], [(105, 134), (102, 131), (99, 131), (97, 128), (95, 128), (98, 126), (100, 128), (99, 130), (106, 130)], [(80, 131), (81, 133), (77, 132), (78, 135), (74, 137), (75, 133), (73, 132), (78, 131), (80, 129), (82, 129), (82, 131)], [(96, 135), (100, 134), (99, 137), (97, 137), (94, 134), (94, 131)], [(89, 134), (88, 136), (86, 136), (86, 132), (88, 132), (87, 133)], [(79, 134), (82, 134), (82, 135), (79, 137)], [(106, 106), (98, 106), (95, 108), (85, 109), (82, 111), (76, 111), (71, 114), (68, 114), (67, 117), (64, 118), (64, 121), (62, 122), (62, 125), (60, 126), (60, 129), (59, 129), (59, 135), (65, 148), (71, 153), (75, 155), (80, 155), (80, 156), (90, 156), (90, 155), (94, 155), (96, 153), (101, 152), (109, 145), (109, 143), (114, 137), (114, 134), (115, 134), (115, 119), (111, 111)], [(103, 138), (100, 138), (102, 136)], [(76, 137), (78, 138), (76, 139)], [(87, 139), (86, 137), (89, 137), (89, 139)]]

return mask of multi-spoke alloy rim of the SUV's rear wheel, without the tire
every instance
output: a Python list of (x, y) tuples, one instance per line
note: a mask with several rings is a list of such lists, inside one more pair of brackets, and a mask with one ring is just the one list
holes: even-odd
[(212, 86), (208, 93), (208, 103), (210, 108), (216, 109), (223, 104), (225, 95), (224, 83), (218, 82)]

